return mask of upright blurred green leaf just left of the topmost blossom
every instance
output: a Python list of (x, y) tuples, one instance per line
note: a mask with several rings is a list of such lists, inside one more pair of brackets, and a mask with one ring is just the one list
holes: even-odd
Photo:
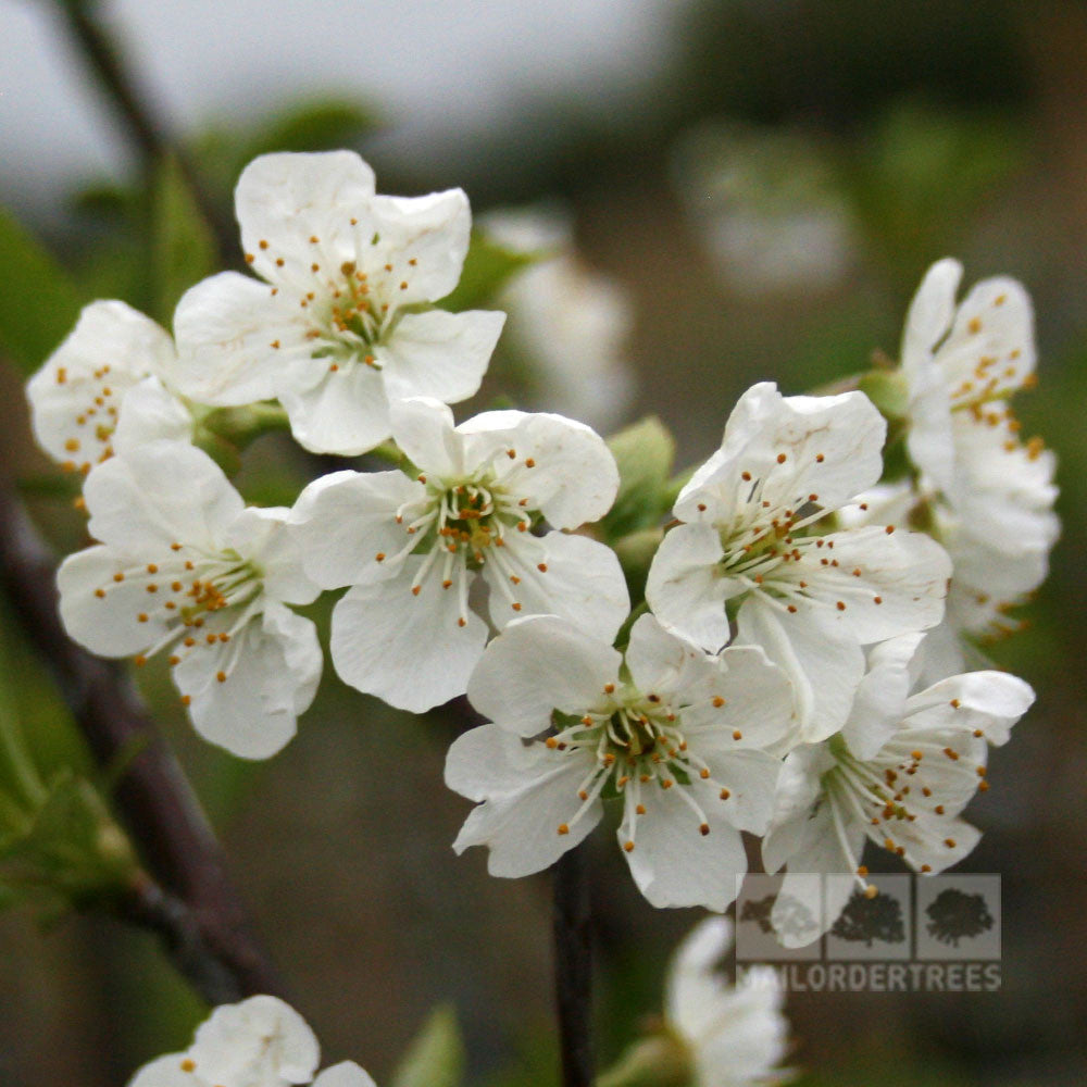
[(182, 295), (216, 267), (215, 240), (177, 161), (159, 167), (152, 198), (154, 315), (170, 323)]

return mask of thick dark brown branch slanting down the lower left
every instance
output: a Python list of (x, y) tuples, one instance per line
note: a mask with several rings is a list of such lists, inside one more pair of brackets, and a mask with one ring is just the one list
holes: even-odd
[(140, 886), (125, 912), (167, 937), (212, 1003), (283, 985), (227, 876), (222, 849), (173, 752), (124, 667), (71, 641), (57, 611), (55, 563), (7, 480), (0, 479), (0, 587), (53, 674), (98, 764), (125, 765), (114, 803), (161, 889)]

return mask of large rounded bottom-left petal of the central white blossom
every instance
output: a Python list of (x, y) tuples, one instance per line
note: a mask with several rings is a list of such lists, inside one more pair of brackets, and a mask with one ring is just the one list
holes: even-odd
[(442, 589), (438, 578), (427, 577), (412, 594), (421, 564), (411, 557), (395, 577), (350, 589), (332, 624), (340, 678), (413, 713), (463, 695), (487, 640), (486, 624), (472, 612), (461, 614), (457, 586)]

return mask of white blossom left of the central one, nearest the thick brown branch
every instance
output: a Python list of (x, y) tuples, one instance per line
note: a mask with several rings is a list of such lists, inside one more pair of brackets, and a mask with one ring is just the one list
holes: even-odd
[(285, 509), (246, 508), (199, 449), (157, 441), (87, 478), (90, 534), (58, 584), (68, 634), (103, 657), (168, 652), (197, 730), (263, 759), (313, 700), (321, 649)]

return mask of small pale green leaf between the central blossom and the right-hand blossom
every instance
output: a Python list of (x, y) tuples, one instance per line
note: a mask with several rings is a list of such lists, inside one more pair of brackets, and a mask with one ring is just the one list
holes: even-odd
[(675, 460), (675, 439), (649, 415), (620, 430), (608, 442), (619, 465), (619, 493), (603, 518), (608, 539), (657, 526), (672, 504), (667, 489)]

